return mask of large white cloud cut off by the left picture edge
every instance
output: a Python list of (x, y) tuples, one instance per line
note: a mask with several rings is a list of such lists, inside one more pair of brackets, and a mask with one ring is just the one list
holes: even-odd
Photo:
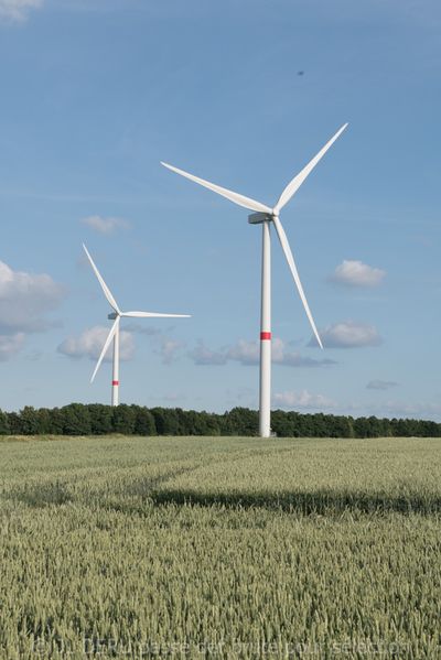
[(44, 314), (58, 306), (64, 293), (50, 275), (14, 271), (0, 261), (0, 333), (46, 329), (51, 323)]

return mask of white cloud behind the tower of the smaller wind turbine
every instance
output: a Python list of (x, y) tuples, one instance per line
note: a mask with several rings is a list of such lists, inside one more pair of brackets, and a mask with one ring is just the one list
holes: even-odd
[[(63, 355), (73, 358), (88, 357), (97, 360), (103, 350), (103, 346), (109, 334), (110, 327), (96, 325), (85, 329), (78, 337), (67, 337), (60, 344), (57, 350)], [(106, 360), (111, 359), (112, 344), (106, 353)], [(121, 360), (129, 360), (135, 351), (135, 340), (131, 333), (127, 331), (119, 332), (119, 357)]]

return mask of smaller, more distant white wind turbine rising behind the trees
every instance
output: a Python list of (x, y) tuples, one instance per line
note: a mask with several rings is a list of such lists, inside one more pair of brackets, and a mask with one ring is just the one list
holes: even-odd
[(107, 302), (114, 310), (111, 314), (107, 316), (107, 318), (114, 321), (114, 324), (110, 328), (109, 334), (107, 335), (107, 339), (103, 346), (101, 354), (96, 364), (94, 374), (92, 375), (90, 382), (94, 382), (95, 376), (101, 365), (104, 356), (107, 353), (107, 349), (110, 346), (111, 340), (114, 339), (114, 365), (112, 365), (112, 378), (111, 378), (111, 404), (118, 405), (118, 394), (119, 394), (119, 321), (121, 317), (131, 317), (131, 318), (190, 318), (190, 314), (158, 314), (157, 312), (121, 312), (118, 307), (118, 303), (112, 296), (110, 289), (107, 286), (104, 281), (99, 270), (95, 266), (93, 258), (90, 257), (86, 246), (83, 244), (84, 251), (87, 255), (87, 259), (90, 261), (90, 266), (94, 269), (96, 277), (98, 278), (98, 282), (101, 285), (104, 294), (107, 299)]

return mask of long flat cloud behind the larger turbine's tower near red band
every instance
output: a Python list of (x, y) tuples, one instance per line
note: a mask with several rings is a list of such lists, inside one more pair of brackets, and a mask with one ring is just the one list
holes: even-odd
[[(271, 358), (276, 365), (284, 367), (324, 367), (335, 364), (331, 359), (318, 360), (291, 351), (283, 339), (279, 337), (275, 337), (271, 344)], [(233, 346), (212, 350), (200, 339), (197, 346), (189, 353), (189, 357), (195, 365), (225, 365), (228, 360), (234, 360), (244, 366), (252, 366), (259, 364), (260, 345), (257, 340), (247, 342), (246, 339), (239, 339)]]

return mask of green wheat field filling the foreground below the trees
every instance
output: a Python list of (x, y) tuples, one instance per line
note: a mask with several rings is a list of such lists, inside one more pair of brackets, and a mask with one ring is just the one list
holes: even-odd
[(441, 441), (0, 441), (0, 658), (441, 658)]

